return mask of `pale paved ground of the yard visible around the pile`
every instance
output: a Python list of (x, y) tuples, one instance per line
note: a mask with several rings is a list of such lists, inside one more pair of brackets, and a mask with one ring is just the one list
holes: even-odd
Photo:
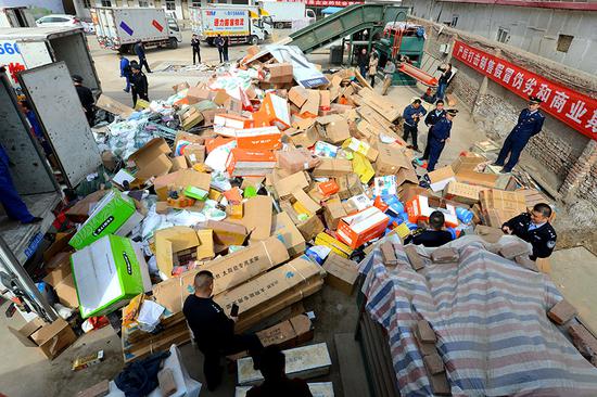
[[(281, 31), (280, 35), (283, 35)], [(130, 97), (122, 91), (124, 80), (118, 77), (118, 59), (115, 53), (101, 50), (89, 37), (89, 46), (96, 67), (102, 81), (104, 93), (130, 104)], [(230, 59), (240, 57), (244, 54), (246, 47), (232, 47)], [(189, 46), (189, 33), (183, 35), (183, 43), (177, 50), (149, 50), (148, 60), (150, 66), (157, 71), (158, 65), (165, 64), (188, 64), (191, 62), (191, 50)], [(325, 64), (327, 54), (315, 54), (309, 56), (313, 62)], [(202, 48), (202, 59), (209, 64), (218, 61), (217, 50)], [(150, 82), (150, 98), (164, 98), (172, 94), (172, 86), (179, 81), (196, 84), (198, 76), (179, 76), (164, 73), (148, 75)], [(381, 85), (379, 85), (381, 86)], [(378, 90), (379, 90), (378, 86)], [(419, 88), (392, 88), (389, 100), (401, 106), (406, 106), (410, 98), (419, 95)], [(419, 146), (424, 148), (425, 133), (423, 129), (419, 137)], [(455, 119), (452, 133), (452, 141), (446, 146), (441, 165), (452, 163), (462, 150), (469, 149), (474, 141), (482, 140), (481, 135), (473, 124), (470, 114), (460, 112)], [(587, 255), (588, 254), (588, 255)], [(583, 317), (590, 317), (589, 303), (595, 302), (595, 289), (587, 280), (587, 274), (594, 273), (594, 265), (597, 262), (590, 253), (576, 249), (557, 252), (552, 257), (554, 278), (556, 283), (573, 304), (582, 310)], [(597, 276), (597, 274), (595, 274)], [(583, 295), (586, 292), (587, 295)], [(577, 300), (576, 300), (577, 299)], [(2, 312), (7, 305), (0, 307)], [(314, 342), (327, 342), (332, 357), (332, 372), (326, 380), (334, 383), (338, 396), (353, 396), (348, 390), (341, 389), (338, 355), (333, 343), (336, 333), (353, 333), (357, 323), (357, 307), (355, 296), (347, 297), (342, 293), (325, 286), (318, 293), (304, 302), (305, 310), (314, 310), (317, 316), (315, 321), (316, 333)], [(593, 320), (594, 321), (594, 320)], [(123, 367), (119, 340), (110, 329), (103, 329), (80, 337), (77, 343), (53, 361), (47, 360), (35, 348), (22, 346), (7, 329), (7, 325), (18, 328), (22, 322), (15, 319), (5, 319), (0, 315), (0, 346), (2, 360), (0, 360), (0, 392), (10, 397), (25, 396), (74, 396), (76, 392), (92, 385), (103, 379), (112, 379)], [(594, 322), (595, 323), (595, 322)], [(266, 324), (264, 324), (266, 326)], [(104, 349), (105, 361), (99, 366), (80, 372), (71, 371), (72, 360), (80, 355), (94, 353)], [(192, 345), (181, 347), (183, 361), (187, 364), (191, 376), (203, 380), (201, 356)], [(236, 376), (225, 376), (223, 386), (216, 393), (202, 392), (202, 396), (232, 396)], [(319, 380), (317, 380), (319, 381)], [(343, 393), (346, 392), (346, 393)]]

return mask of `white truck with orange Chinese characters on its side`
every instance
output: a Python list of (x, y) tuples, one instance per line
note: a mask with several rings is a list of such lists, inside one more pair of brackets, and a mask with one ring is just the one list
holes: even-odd
[(257, 44), (274, 33), (271, 18), (256, 5), (208, 4), (190, 10), (193, 33), (209, 46), (218, 35), (228, 37), (231, 44)]

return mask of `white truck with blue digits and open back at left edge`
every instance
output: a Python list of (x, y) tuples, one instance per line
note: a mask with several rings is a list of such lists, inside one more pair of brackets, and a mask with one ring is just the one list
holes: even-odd
[(17, 73), (64, 61), (71, 75), (84, 78), (84, 85), (96, 95), (101, 93), (100, 79), (89, 54), (81, 29), (29, 27), (0, 29), (0, 65), (4, 65), (11, 84), (20, 92)]

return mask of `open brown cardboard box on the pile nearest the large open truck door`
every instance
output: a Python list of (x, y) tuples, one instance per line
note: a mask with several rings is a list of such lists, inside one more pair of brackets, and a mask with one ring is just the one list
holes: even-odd
[(130, 155), (129, 161), (132, 161), (137, 166), (135, 177), (144, 181), (151, 177), (160, 177), (168, 174), (173, 164), (168, 157), (170, 146), (164, 138), (154, 138), (137, 152)]

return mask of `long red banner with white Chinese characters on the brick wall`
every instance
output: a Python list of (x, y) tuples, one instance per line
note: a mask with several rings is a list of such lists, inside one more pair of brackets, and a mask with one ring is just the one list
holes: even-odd
[(542, 110), (597, 140), (597, 101), (520, 66), (456, 41), (452, 55), (516, 94), (539, 98)]

